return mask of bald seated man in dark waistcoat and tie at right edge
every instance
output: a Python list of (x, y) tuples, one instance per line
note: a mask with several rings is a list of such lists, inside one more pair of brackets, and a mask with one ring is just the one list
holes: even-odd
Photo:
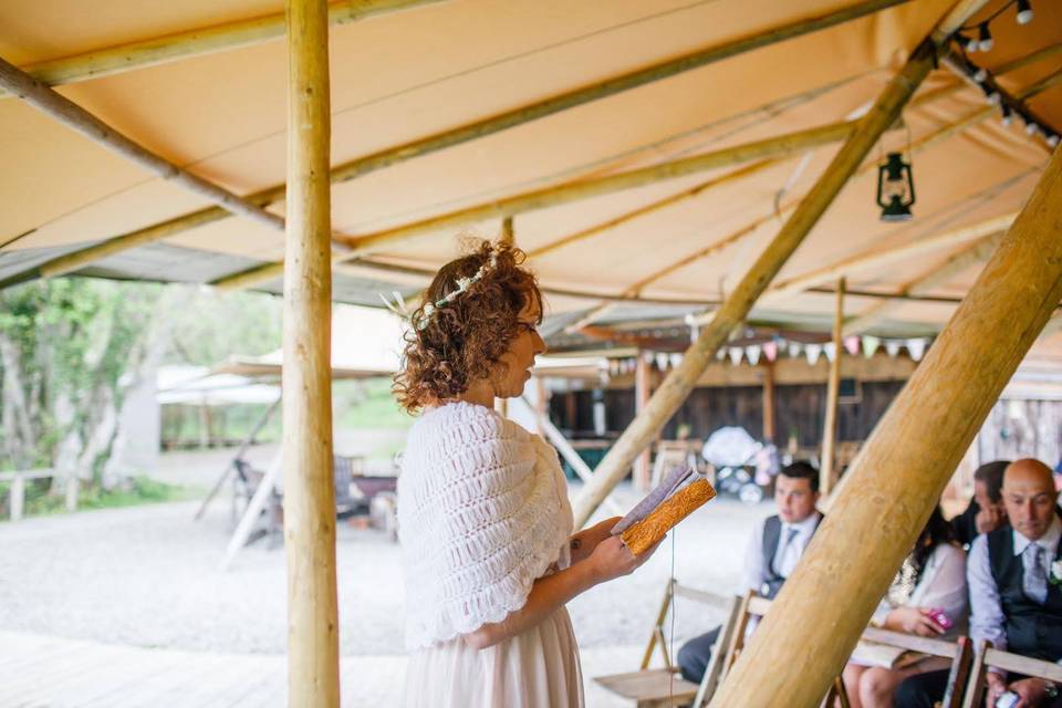
[[(967, 566), (970, 637), (1022, 656), (1062, 662), (1062, 585), (1052, 570), (1062, 558), (1062, 511), (1055, 506), (1051, 469), (1038, 460), (1012, 462), (1003, 475), (1010, 525), (974, 541)], [(895, 705), (929, 708), (944, 697), (948, 671), (914, 676), (899, 685)], [(1059, 687), (1039, 678), (1008, 677), (992, 669), (986, 705), (1006, 691), (1022, 708), (1062, 707)]]

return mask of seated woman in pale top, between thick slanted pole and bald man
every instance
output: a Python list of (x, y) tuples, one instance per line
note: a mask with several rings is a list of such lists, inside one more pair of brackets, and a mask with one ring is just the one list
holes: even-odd
[[(939, 507), (933, 510), (871, 624), (924, 637), (951, 638), (966, 633), (966, 552), (956, 543)], [(889, 707), (902, 680), (948, 666), (948, 660), (939, 657), (916, 656), (913, 662), (887, 653), (879, 654), (877, 660), (872, 657), (873, 648), (861, 643), (844, 667), (844, 687), (852, 708)]]

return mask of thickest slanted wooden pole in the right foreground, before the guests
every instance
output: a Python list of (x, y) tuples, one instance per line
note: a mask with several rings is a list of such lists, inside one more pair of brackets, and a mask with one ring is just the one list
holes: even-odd
[(1055, 150), (996, 254), (853, 462), (814, 543), (716, 695), (716, 708), (810, 708), (841, 671), (986, 415), (1062, 299), (1060, 184), (1062, 150)]

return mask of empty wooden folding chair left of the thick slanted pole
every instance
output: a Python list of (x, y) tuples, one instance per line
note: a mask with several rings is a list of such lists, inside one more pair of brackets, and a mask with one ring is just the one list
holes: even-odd
[[(676, 596), (716, 607), (729, 607), (729, 620), (719, 632), (719, 639), (716, 641), (711, 663), (708, 665), (700, 685), (677, 676), (678, 668), (671, 663), (671, 656), (667, 650), (664, 626), (668, 612), (673, 610)], [(664, 601), (660, 603), (656, 622), (649, 633), (649, 641), (646, 644), (639, 669), (626, 674), (597, 676), (594, 680), (612, 693), (635, 701), (637, 708), (670, 708), (671, 706), (687, 705), (695, 698), (699, 701), (706, 700), (715, 690), (718, 681), (721, 662), (717, 662), (717, 658), (721, 648), (726, 646), (723, 637), (729, 637), (733, 629), (737, 607), (738, 601), (736, 597), (727, 598), (714, 593), (694, 590), (680, 585), (675, 579), (669, 579), (664, 590)], [(664, 659), (664, 668), (652, 669), (649, 664), (653, 660), (654, 650), (657, 648)], [(699, 706), (701, 704), (695, 702), (694, 705)]]

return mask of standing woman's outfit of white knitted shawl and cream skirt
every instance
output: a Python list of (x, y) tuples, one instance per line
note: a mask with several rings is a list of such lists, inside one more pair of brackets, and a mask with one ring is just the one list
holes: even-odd
[(572, 510), (556, 452), (494, 412), (448, 404), (410, 430), (398, 482), (406, 574), (404, 706), (581, 708), (568, 611), (485, 649), (461, 635), (523, 606), (570, 564)]

